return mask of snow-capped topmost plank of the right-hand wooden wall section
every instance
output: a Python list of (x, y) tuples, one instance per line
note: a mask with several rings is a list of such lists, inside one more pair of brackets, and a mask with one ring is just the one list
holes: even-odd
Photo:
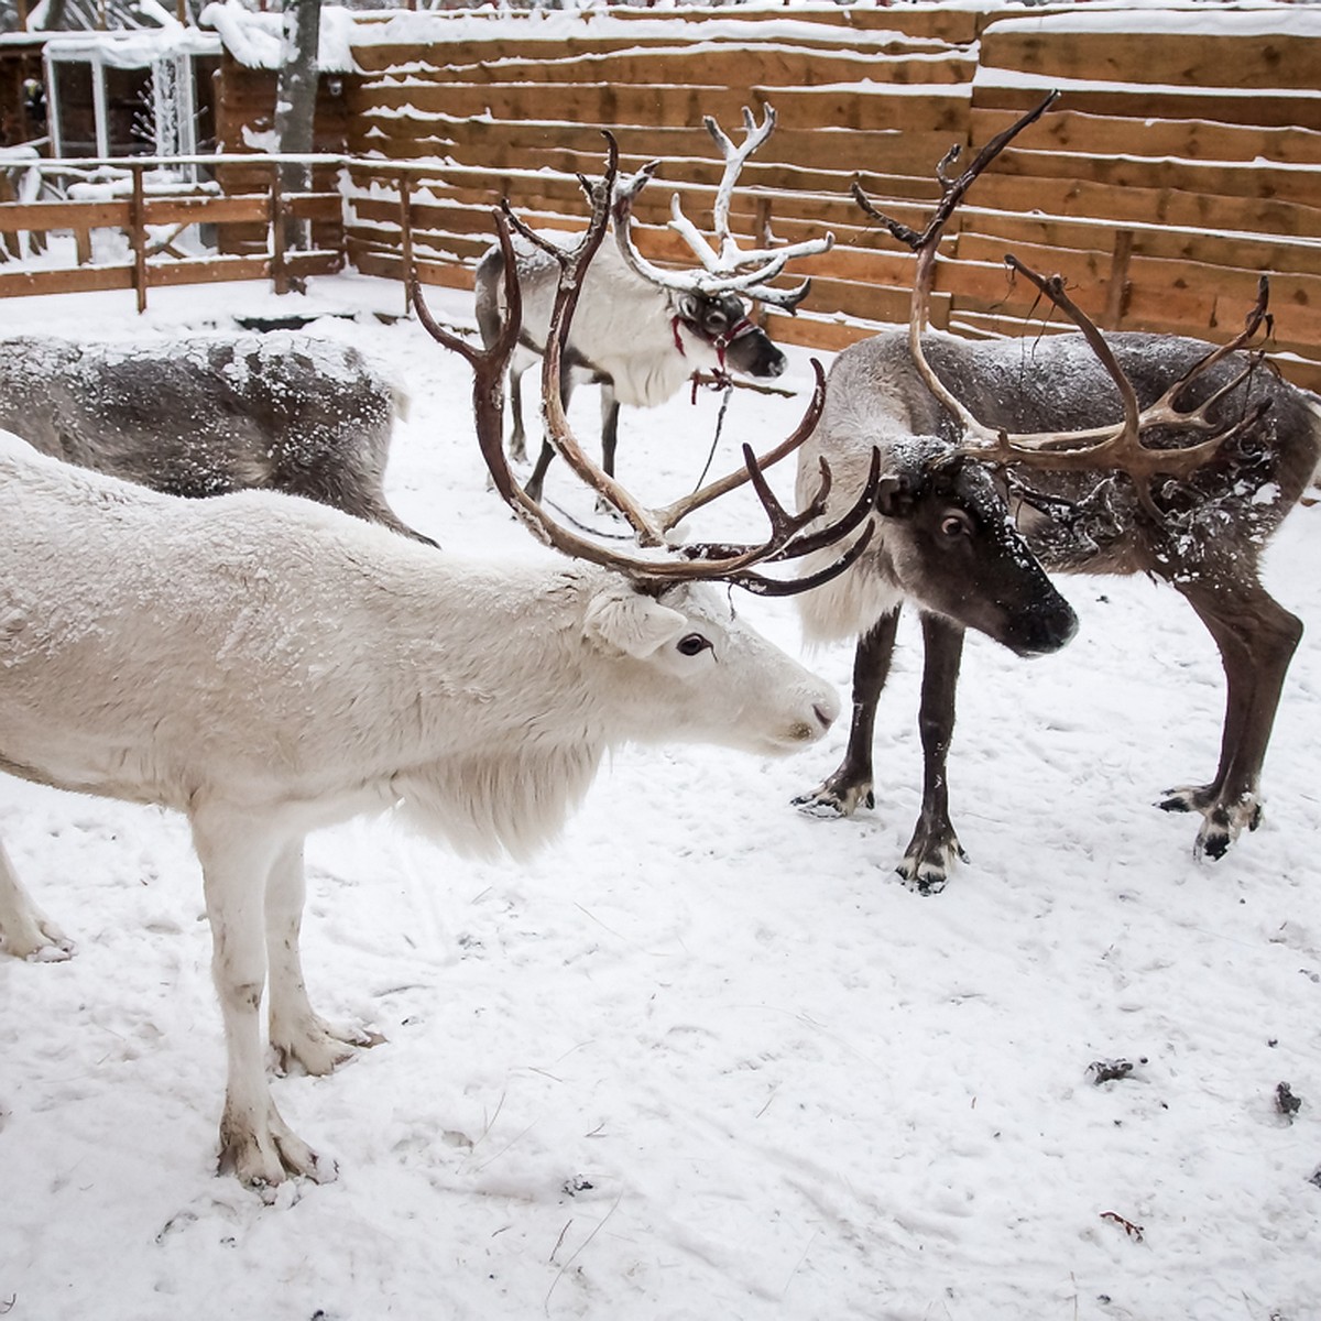
[[(1033, 30), (1033, 24), (991, 24), (982, 65), (1040, 74), (1045, 81), (1143, 82), (1170, 87), (1321, 87), (1321, 38), (1297, 33), (1238, 36), (1192, 20), (1176, 33)], [(1170, 40), (1170, 38), (1174, 40)]]

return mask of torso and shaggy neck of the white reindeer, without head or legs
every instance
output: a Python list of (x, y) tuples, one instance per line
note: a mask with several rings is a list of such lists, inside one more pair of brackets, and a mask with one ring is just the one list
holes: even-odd
[(581, 641), (604, 569), (468, 563), (268, 493), (173, 499), (4, 439), (0, 526), (0, 766), (29, 779), (305, 804), (305, 827), (403, 801), (523, 853), (609, 746), (657, 733), (645, 696), (596, 700), (620, 682)]

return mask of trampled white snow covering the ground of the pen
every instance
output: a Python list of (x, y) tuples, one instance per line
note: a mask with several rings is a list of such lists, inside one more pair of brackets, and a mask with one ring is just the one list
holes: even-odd
[[(160, 291), (140, 320), (128, 295), (8, 300), (0, 332), (400, 304), (350, 279), (303, 301)], [(411, 321), (314, 329), (411, 392), (387, 483), (406, 519), (540, 553), (485, 489), (457, 358)], [(801, 403), (738, 392), (717, 464)], [(592, 432), (592, 391), (575, 417)], [(686, 490), (715, 417), (715, 396), (626, 412), (625, 481)], [(563, 465), (548, 495), (589, 517)], [(711, 526), (760, 530), (729, 505)], [(184, 822), (0, 781), (0, 836), (77, 942), (66, 963), (0, 954), (0, 1314), (1314, 1321), (1318, 550), (1321, 509), (1297, 511), (1267, 579), (1310, 631), (1266, 819), (1218, 863), (1152, 807), (1214, 766), (1214, 647), (1170, 589), (1098, 579), (1062, 581), (1082, 627), (1055, 657), (971, 639), (951, 761), (971, 861), (939, 896), (893, 873), (919, 786), (911, 621), (877, 808), (852, 820), (789, 802), (834, 769), (845, 717), (786, 761), (620, 754), (527, 867), (458, 861), (388, 818), (313, 836), (313, 1001), (388, 1040), (273, 1083), (339, 1169), (273, 1205), (214, 1173), (225, 1050)], [(791, 602), (737, 605), (798, 650)], [(811, 662), (845, 707), (851, 662)], [(1098, 1085), (1100, 1061), (1133, 1067)]]

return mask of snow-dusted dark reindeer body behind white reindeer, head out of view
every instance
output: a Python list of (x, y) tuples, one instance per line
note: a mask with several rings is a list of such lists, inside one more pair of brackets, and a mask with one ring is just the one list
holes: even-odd
[(404, 404), (357, 349), (303, 332), (0, 339), (0, 429), (52, 458), (169, 495), (303, 495), (435, 544), (386, 502)]

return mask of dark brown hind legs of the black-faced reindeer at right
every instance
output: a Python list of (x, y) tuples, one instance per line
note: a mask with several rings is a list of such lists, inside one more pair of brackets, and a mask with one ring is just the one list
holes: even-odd
[(1289, 662), (1303, 637), (1303, 621), (1284, 609), (1242, 571), (1214, 579), (1176, 581), (1206, 625), (1225, 667), (1225, 727), (1215, 779), (1172, 790), (1166, 811), (1199, 811), (1196, 849), (1223, 857), (1244, 828), (1262, 819), (1260, 777), (1275, 712)]

